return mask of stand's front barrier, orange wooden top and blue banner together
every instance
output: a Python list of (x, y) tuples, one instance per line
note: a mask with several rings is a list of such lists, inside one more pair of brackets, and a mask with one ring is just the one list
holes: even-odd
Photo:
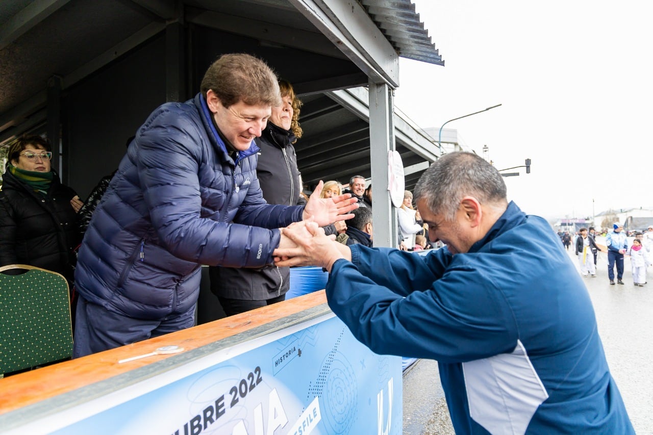
[[(400, 434), (402, 363), (310, 293), (0, 379), (0, 432)], [(162, 346), (181, 353), (144, 355)]]

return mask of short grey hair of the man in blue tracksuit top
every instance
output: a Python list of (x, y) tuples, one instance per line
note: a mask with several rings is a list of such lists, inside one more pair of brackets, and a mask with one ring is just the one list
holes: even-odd
[(505, 202), (503, 177), (490, 163), (473, 153), (443, 155), (424, 171), (413, 191), (415, 202), (425, 201), (434, 214), (451, 221), (463, 197), (481, 204)]

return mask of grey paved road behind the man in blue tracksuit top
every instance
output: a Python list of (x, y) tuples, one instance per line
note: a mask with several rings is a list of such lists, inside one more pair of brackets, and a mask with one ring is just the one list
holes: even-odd
[[(569, 261), (578, 264), (571, 250)], [(629, 259), (624, 263), (624, 285), (609, 284), (605, 253), (599, 254), (597, 278), (584, 282), (610, 370), (635, 432), (653, 435), (653, 267), (648, 269), (649, 283), (635, 287)], [(437, 363), (419, 360), (404, 374), (404, 434), (453, 433)]]

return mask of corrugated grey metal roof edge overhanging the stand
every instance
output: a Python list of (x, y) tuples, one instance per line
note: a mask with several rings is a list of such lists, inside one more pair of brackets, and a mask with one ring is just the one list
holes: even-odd
[(358, 0), (400, 57), (445, 65), (410, 0)]

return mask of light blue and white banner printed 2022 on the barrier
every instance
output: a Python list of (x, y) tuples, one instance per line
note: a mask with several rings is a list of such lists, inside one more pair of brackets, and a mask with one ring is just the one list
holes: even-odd
[[(336, 317), (281, 331), (264, 344), (257, 340), (220, 351), (223, 361), (192, 374), (175, 368), (101, 398), (93, 415), (88, 408), (69, 410), (49, 428), (59, 434), (402, 432), (400, 357), (372, 353)], [(70, 424), (71, 415), (85, 414)]]

